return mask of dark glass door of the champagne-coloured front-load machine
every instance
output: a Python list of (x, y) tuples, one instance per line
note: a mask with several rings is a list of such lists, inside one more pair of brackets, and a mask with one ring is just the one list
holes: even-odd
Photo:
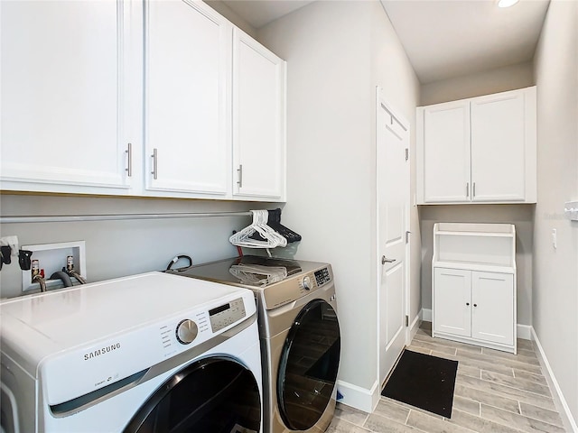
[(277, 402), (285, 426), (312, 428), (331, 400), (340, 364), (340, 327), (331, 305), (315, 299), (294, 320), (277, 375)]

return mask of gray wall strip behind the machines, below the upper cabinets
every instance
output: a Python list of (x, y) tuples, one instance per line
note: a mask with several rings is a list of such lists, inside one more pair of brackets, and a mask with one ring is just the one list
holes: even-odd
[[(0, 196), (2, 216), (92, 215), (167, 212), (229, 212), (275, 208), (263, 203), (144, 198)], [(284, 220), (285, 221), (285, 220)], [(250, 224), (250, 217), (208, 217), (72, 223), (19, 223), (0, 226), (2, 236), (17, 235), (21, 245), (86, 241), (89, 281), (164, 270), (178, 253), (195, 263), (237, 255), (228, 242), (233, 229)], [(291, 226), (287, 224), (288, 226)], [(297, 228), (295, 231), (299, 232)], [(41, 263), (42, 266), (42, 263)], [(0, 296), (21, 294), (22, 271), (17, 261), (0, 272)], [(146, 302), (146, 299), (135, 299)]]

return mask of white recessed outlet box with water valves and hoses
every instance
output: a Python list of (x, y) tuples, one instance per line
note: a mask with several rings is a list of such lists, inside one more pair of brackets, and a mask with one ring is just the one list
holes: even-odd
[[(84, 241), (63, 242), (58, 244), (23, 245), (23, 250), (32, 251), (32, 269), (22, 272), (22, 291), (39, 290), (40, 283), (33, 281), (34, 275), (39, 274), (46, 284), (46, 289), (63, 287), (61, 279), (51, 279), (54, 272), (74, 271), (87, 278), (86, 246)], [(70, 272), (72, 273), (72, 272)], [(71, 277), (72, 284), (79, 281)]]

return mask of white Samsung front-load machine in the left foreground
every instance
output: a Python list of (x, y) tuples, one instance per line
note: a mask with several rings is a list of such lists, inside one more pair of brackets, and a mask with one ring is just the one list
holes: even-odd
[(150, 272), (0, 314), (6, 433), (262, 431), (250, 290)]

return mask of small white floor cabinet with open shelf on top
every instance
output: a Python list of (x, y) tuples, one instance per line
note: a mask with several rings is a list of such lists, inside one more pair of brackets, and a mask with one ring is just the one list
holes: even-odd
[(515, 226), (437, 223), (433, 245), (432, 335), (515, 354)]

